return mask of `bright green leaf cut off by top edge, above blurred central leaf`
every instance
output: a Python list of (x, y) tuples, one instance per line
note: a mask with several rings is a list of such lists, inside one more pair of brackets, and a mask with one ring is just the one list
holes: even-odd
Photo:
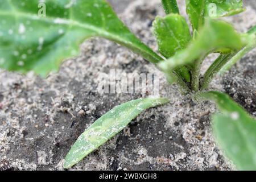
[(186, 6), (194, 30), (204, 25), (205, 17), (220, 18), (246, 10), (242, 0), (186, 0)]

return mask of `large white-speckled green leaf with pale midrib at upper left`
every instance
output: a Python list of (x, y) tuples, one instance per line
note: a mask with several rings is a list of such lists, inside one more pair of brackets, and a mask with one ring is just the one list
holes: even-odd
[(45, 16), (38, 13), (39, 3), (1, 1), (0, 68), (47, 76), (64, 59), (76, 56), (80, 43), (92, 36), (113, 40), (152, 63), (162, 60), (129, 31), (105, 0), (46, 0)]

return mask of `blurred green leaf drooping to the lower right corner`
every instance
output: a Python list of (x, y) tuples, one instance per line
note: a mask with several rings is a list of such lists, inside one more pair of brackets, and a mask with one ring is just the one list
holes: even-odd
[(256, 120), (227, 94), (199, 94), (216, 102), (222, 114), (214, 114), (213, 131), (225, 155), (241, 170), (256, 170)]

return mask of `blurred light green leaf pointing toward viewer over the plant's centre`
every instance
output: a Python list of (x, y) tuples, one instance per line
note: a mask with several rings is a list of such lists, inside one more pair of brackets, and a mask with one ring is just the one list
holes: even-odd
[(205, 57), (208, 53), (224, 48), (238, 50), (246, 43), (247, 40), (244, 40), (229, 23), (207, 19), (205, 26), (199, 31), (199, 36), (192, 40), (187, 48), (159, 63), (159, 68), (166, 73), (181, 65), (190, 65), (193, 68), (193, 61)]

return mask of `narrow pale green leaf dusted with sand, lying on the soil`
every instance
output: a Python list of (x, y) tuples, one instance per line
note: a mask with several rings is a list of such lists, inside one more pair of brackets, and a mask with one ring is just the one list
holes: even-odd
[(118, 134), (143, 110), (167, 102), (167, 98), (140, 98), (114, 107), (80, 135), (65, 158), (64, 168), (72, 167)]

